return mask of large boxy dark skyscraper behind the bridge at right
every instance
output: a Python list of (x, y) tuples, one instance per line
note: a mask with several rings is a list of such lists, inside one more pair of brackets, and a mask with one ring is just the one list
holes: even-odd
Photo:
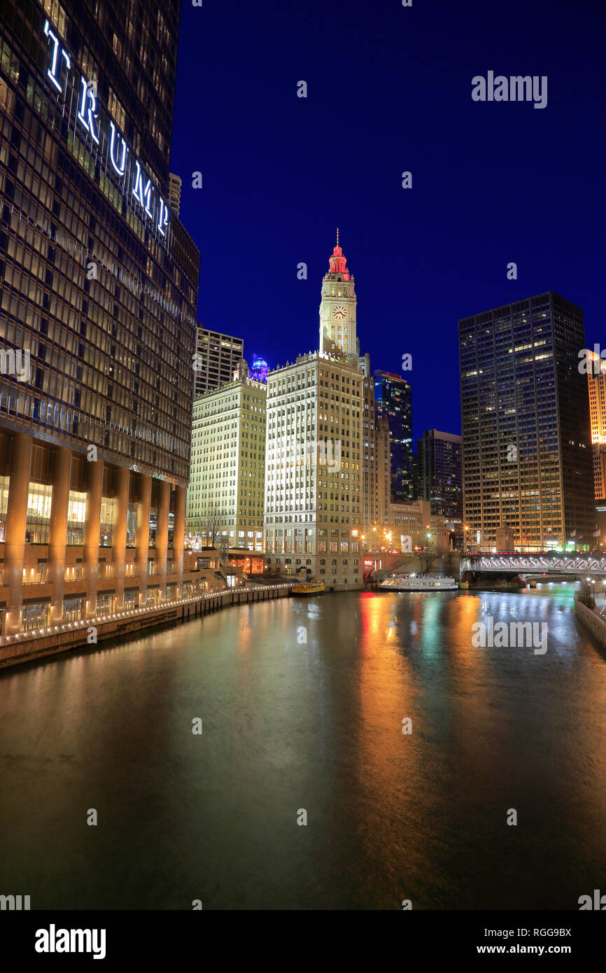
[(489, 550), (588, 548), (595, 529), (580, 307), (552, 291), (459, 321), (464, 522)]

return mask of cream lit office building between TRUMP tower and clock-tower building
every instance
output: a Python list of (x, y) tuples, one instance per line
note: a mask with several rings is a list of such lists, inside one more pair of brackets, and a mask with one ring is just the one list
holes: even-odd
[(263, 551), (267, 384), (235, 378), (194, 401), (186, 527), (202, 546)]

